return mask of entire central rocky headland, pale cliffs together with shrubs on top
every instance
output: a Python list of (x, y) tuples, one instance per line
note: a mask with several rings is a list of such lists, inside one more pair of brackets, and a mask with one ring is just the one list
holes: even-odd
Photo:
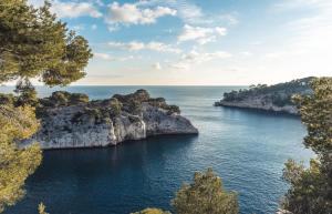
[(41, 129), (20, 146), (39, 142), (45, 150), (94, 147), (152, 135), (198, 133), (189, 120), (179, 115), (177, 106), (167, 105), (162, 98), (151, 99), (145, 90), (101, 101), (83, 101), (84, 98), (54, 92), (42, 99), (38, 111)]

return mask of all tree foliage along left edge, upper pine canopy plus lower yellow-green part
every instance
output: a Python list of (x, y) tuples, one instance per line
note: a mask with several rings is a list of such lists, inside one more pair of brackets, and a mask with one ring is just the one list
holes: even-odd
[[(30, 106), (38, 101), (30, 79), (66, 85), (85, 75), (92, 58), (87, 41), (69, 31), (50, 7), (48, 1), (41, 8), (27, 0), (0, 1), (0, 83), (17, 81), (19, 94), (0, 94), (0, 213), (23, 197), (24, 182), (42, 160), (39, 145), (17, 146), (39, 128)], [(44, 206), (39, 211), (45, 213)]]

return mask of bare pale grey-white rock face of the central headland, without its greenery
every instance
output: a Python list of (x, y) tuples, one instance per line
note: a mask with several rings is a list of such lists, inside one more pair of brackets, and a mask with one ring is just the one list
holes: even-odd
[(179, 114), (143, 103), (142, 115), (126, 112), (106, 121), (83, 114), (75, 121), (77, 112), (85, 105), (62, 106), (48, 110), (48, 116), (41, 121), (41, 129), (31, 139), (19, 145), (27, 146), (39, 142), (44, 150), (73, 149), (116, 145), (127, 140), (141, 140), (159, 134), (197, 134), (194, 125)]

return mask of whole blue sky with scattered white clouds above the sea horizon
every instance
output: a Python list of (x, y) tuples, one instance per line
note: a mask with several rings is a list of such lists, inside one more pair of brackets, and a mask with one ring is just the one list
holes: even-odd
[(73, 84), (249, 85), (332, 75), (331, 0), (52, 4), (94, 53), (86, 77)]

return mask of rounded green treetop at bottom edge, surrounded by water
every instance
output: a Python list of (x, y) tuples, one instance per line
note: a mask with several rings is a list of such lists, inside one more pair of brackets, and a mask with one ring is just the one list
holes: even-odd
[(237, 214), (237, 194), (222, 187), (211, 169), (196, 172), (191, 184), (184, 184), (172, 201), (177, 214)]

